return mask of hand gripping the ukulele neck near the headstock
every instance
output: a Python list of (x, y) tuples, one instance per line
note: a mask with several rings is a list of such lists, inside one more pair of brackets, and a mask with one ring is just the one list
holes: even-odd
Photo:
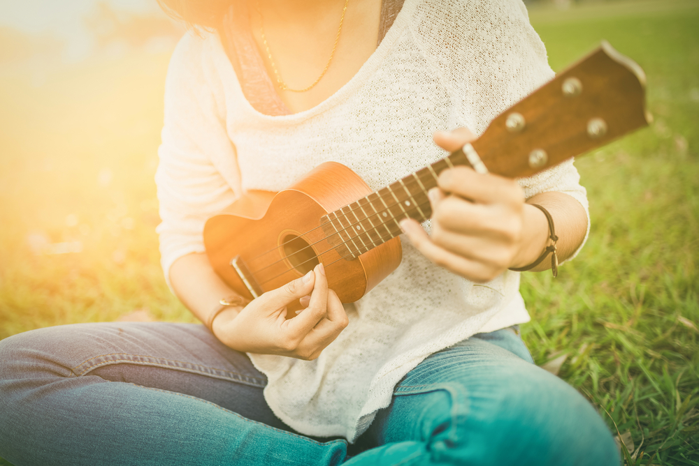
[[(459, 128), (452, 133), (435, 133), (434, 140), (442, 149), (454, 151), (475, 140), (475, 136)], [(533, 262), (537, 256), (530, 260), (531, 251), (540, 252), (545, 247), (545, 218), (543, 224), (536, 219), (525, 232), (525, 217), (537, 215), (528, 209), (540, 211), (524, 202), (517, 181), (456, 167), (440, 174), (438, 186), (429, 193), (431, 236), (417, 221), (401, 221), (415, 248), (438, 266), (484, 283), (510, 267)], [(533, 232), (532, 227), (544, 230)], [(527, 243), (532, 238), (536, 244)]]

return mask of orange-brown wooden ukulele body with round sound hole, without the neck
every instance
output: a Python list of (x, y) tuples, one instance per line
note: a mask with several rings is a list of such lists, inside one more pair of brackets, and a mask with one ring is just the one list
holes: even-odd
[(204, 227), (206, 252), (214, 270), (233, 290), (252, 299), (253, 283), (245, 283), (245, 267), (268, 292), (303, 276), (318, 262), (340, 301), (357, 301), (401, 263), (397, 237), (353, 260), (347, 260), (326, 238), (321, 218), (372, 190), (352, 170), (327, 162), (279, 193), (251, 191), (213, 216)]

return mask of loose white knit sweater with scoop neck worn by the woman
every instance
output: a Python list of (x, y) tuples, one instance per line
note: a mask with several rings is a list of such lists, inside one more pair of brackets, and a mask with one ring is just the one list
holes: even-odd
[[(282, 190), (326, 160), (381, 188), (445, 155), (431, 141), (435, 130), (480, 134), (553, 75), (520, 0), (406, 0), (343, 88), (310, 110), (270, 117), (245, 100), (219, 38), (188, 34), (168, 71), (156, 176), (166, 276), (178, 257), (203, 252), (206, 218), (245, 190)], [(520, 184), (526, 197), (556, 190), (587, 209), (572, 162)], [(528, 322), (518, 288), (519, 273), (477, 285), (403, 241), (401, 266), (347, 306), (349, 326), (318, 359), (250, 357), (282, 421), (354, 441), (426, 356)]]

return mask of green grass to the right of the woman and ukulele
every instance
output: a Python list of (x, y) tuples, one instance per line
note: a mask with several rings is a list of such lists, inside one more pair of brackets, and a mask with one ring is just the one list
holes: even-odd
[(628, 464), (699, 465), (699, 3), (644, 3), (531, 13), (556, 70), (602, 39), (640, 63), (655, 123), (577, 161), (590, 239), (556, 280), (526, 274), (524, 338), (538, 363), (568, 354)]

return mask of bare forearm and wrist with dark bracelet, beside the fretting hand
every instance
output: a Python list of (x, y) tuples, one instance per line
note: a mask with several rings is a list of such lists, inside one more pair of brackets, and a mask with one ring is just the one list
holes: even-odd
[[(540, 193), (526, 200), (524, 205), (524, 230), (521, 238), (521, 252), (515, 257), (512, 268), (531, 264), (542, 254), (549, 240), (549, 224), (542, 211), (529, 204), (539, 204), (554, 219), (556, 236), (556, 255), (559, 262), (568, 259), (579, 248), (587, 231), (587, 214), (577, 200), (565, 193)], [(551, 269), (551, 261), (543, 260), (531, 271)]]

